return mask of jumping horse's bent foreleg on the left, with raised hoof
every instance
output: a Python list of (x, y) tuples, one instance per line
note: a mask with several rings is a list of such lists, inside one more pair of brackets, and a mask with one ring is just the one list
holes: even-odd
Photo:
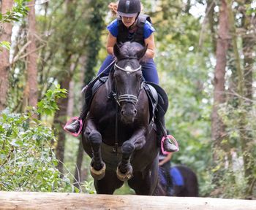
[(86, 134), (89, 135), (91, 150), (93, 157), (91, 158), (91, 176), (94, 179), (102, 179), (105, 176), (105, 163), (102, 161), (100, 144), (102, 144), (102, 136), (97, 131), (92, 120), (88, 120), (86, 126)]

